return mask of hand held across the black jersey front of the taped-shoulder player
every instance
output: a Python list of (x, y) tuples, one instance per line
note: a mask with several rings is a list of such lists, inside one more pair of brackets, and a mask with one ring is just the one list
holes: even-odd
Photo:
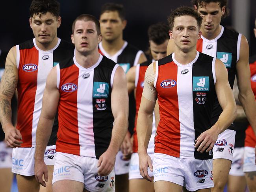
[(203, 153), (205, 150), (206, 152), (209, 152), (216, 143), (218, 135), (217, 131), (213, 128), (204, 131), (195, 140), (195, 148), (197, 148), (197, 151), (200, 151), (200, 153)]

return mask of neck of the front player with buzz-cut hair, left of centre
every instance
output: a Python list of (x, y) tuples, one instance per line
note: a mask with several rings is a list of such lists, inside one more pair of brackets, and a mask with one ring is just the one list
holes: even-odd
[(98, 52), (98, 49), (94, 50), (90, 54), (83, 55), (82, 53), (78, 52), (76, 50), (76, 62), (81, 65), (84, 68), (90, 68), (91, 66), (95, 65), (97, 63), (100, 53)]

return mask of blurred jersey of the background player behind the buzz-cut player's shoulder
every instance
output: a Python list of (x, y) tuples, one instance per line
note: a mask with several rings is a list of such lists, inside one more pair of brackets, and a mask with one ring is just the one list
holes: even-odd
[[(141, 50), (136, 48), (135, 46), (129, 44), (127, 41), (124, 41), (124, 45), (122, 48), (115, 54), (109, 55), (103, 48), (102, 43), (99, 44), (99, 52), (102, 55), (105, 55), (109, 59), (113, 60), (115, 63), (119, 64), (125, 73), (128, 70), (139, 63), (139, 57), (143, 53)], [(135, 108), (135, 99), (134, 92), (129, 95), (129, 125), (128, 130), (130, 133), (133, 132), (134, 129), (134, 118), (135, 118), (136, 108)]]

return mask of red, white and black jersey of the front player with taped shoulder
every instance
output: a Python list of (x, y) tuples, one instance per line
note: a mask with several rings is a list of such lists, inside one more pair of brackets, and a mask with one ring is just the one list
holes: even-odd
[(215, 60), (197, 52), (187, 65), (174, 54), (156, 61), (154, 86), (158, 92), (160, 122), (155, 137), (155, 153), (184, 159), (212, 159), (212, 150), (200, 153), (195, 139), (211, 128), (216, 98)]

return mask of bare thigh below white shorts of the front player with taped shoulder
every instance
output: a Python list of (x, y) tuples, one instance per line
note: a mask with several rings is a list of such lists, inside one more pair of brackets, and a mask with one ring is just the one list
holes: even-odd
[(154, 182), (155, 192), (181, 192), (182, 186), (169, 181)]

